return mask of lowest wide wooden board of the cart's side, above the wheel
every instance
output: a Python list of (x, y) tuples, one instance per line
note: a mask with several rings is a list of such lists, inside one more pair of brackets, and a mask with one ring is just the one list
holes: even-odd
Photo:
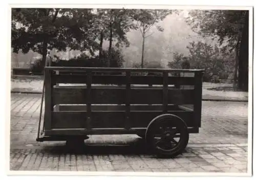
[[(193, 126), (192, 111), (167, 111), (166, 113), (174, 114), (182, 118), (188, 126)], [(158, 115), (163, 112), (131, 112), (131, 127), (147, 127), (147, 125)], [(123, 112), (92, 112), (91, 128), (125, 128), (125, 111)], [(52, 112), (51, 128), (86, 128), (84, 122), (87, 121), (86, 111), (59, 111)]]

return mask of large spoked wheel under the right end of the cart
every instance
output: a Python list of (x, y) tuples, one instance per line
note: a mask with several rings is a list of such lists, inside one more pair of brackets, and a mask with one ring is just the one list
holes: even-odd
[(173, 114), (163, 114), (154, 118), (147, 126), (146, 142), (158, 156), (180, 155), (188, 143), (186, 123)]

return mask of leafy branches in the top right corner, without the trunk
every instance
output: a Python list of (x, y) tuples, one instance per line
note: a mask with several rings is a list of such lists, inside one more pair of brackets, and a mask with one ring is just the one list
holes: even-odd
[(227, 42), (232, 51), (241, 39), (245, 15), (246, 11), (240, 10), (193, 10), (186, 21), (203, 37), (217, 38), (220, 44)]

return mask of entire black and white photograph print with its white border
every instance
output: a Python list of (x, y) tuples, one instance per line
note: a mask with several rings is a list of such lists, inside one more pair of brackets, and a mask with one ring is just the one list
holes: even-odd
[(10, 6), (9, 174), (251, 175), (252, 10)]

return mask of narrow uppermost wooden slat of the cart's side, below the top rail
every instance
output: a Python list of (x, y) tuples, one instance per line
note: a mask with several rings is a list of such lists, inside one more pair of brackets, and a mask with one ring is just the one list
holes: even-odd
[[(169, 85), (194, 85), (194, 77), (176, 77), (168, 76)], [(85, 84), (87, 81), (87, 75), (69, 75), (60, 74), (54, 75), (53, 81), (56, 83), (73, 83), (73, 84)], [(131, 84), (144, 84), (144, 85), (161, 85), (163, 83), (162, 76), (131, 76)], [(124, 75), (93, 75), (92, 84), (125, 84)]]

